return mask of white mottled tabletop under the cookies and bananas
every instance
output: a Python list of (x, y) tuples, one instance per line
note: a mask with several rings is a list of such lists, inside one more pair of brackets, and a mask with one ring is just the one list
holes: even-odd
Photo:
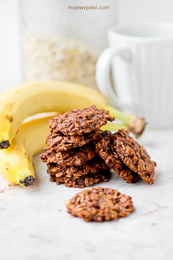
[(155, 182), (125, 183), (118, 174), (95, 186), (118, 189), (133, 198), (127, 218), (87, 223), (66, 212), (64, 201), (80, 191), (49, 181), (35, 156), (33, 186), (8, 186), (0, 177), (0, 259), (172, 259), (173, 129), (146, 131), (139, 139), (157, 162)]

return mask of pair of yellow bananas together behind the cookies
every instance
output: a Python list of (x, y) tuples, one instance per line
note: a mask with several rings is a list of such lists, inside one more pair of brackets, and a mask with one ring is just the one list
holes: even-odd
[(3, 92), (0, 95), (0, 173), (3, 177), (22, 186), (32, 185), (35, 180), (32, 157), (46, 145), (48, 118), (23, 123), (25, 118), (41, 112), (64, 113), (90, 105), (108, 109), (111, 116), (123, 123), (121, 126), (107, 124), (104, 129), (116, 131), (123, 127), (136, 135), (144, 129), (143, 118), (124, 114), (109, 105), (99, 92), (80, 84), (65, 81), (24, 83)]

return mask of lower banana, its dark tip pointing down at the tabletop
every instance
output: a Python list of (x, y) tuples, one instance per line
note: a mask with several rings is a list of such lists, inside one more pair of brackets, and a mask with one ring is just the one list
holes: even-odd
[(0, 173), (9, 182), (29, 186), (35, 181), (32, 157), (46, 146), (48, 119), (50, 116), (22, 124), (11, 146), (1, 151)]

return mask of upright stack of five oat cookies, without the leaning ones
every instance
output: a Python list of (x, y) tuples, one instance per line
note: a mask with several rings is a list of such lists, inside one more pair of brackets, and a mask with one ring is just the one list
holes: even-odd
[(100, 135), (100, 127), (113, 120), (108, 111), (94, 105), (50, 119), (48, 146), (40, 155), (48, 166), (50, 180), (79, 188), (108, 181), (110, 168), (95, 151), (94, 140)]

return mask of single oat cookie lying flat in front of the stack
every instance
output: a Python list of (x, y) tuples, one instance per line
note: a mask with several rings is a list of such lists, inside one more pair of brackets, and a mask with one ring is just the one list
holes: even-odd
[(127, 217), (135, 210), (131, 197), (110, 188), (82, 190), (65, 202), (67, 212), (84, 221), (102, 222)]

